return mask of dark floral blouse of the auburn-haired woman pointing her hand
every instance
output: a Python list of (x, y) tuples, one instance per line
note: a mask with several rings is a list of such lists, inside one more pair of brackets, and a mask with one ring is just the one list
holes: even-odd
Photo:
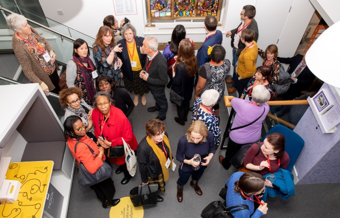
[(114, 69), (114, 63), (117, 61), (117, 55), (114, 54), (114, 59), (111, 64), (108, 64), (106, 58), (111, 52), (110, 46), (106, 46), (104, 50), (97, 45), (93, 45), (93, 59), (97, 67), (98, 74), (106, 74), (114, 81), (114, 85), (119, 87), (120, 84), (120, 69)]

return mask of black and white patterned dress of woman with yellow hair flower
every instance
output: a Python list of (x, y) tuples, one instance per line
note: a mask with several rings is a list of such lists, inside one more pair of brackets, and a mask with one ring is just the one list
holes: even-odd
[(215, 89), (219, 93), (218, 101), (224, 93), (224, 79), (230, 70), (230, 61), (223, 60), (223, 64), (219, 66), (211, 65), (209, 62), (203, 64), (198, 69), (198, 75), (206, 79), (205, 86), (201, 93), (208, 89)]

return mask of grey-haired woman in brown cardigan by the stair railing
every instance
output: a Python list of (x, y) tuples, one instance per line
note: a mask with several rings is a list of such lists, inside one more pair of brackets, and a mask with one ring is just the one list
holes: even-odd
[(12, 48), (24, 75), (30, 82), (39, 83), (43, 91), (58, 94), (59, 67), (54, 63), (56, 55), (47, 40), (22, 15), (12, 13), (6, 17), (6, 22), (14, 31)]

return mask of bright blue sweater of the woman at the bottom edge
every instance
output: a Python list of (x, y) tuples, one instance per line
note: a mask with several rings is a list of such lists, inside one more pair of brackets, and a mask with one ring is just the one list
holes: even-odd
[[(231, 175), (231, 177), (226, 181), (226, 186), (228, 187), (228, 190), (226, 192), (226, 207), (232, 207), (235, 205), (247, 205), (249, 207), (249, 210), (241, 210), (236, 211), (234, 213), (231, 213), (234, 218), (259, 218), (263, 215), (262, 212), (256, 209), (256, 211), (252, 214), (254, 211), (254, 203), (250, 200), (243, 200), (241, 195), (239, 193), (234, 192), (234, 183), (239, 180), (239, 178), (243, 175), (243, 172), (236, 172)], [(253, 197), (250, 197), (253, 199)], [(252, 214), (252, 216), (250, 216)]]

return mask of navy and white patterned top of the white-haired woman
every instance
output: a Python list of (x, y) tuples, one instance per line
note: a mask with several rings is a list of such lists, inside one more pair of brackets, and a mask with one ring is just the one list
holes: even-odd
[(219, 120), (215, 115), (215, 110), (211, 108), (212, 113), (208, 114), (203, 111), (199, 106), (201, 105), (201, 98), (198, 98), (192, 108), (191, 123), (195, 120), (204, 122), (207, 130), (212, 133), (215, 142), (215, 148), (219, 146), (221, 130), (218, 127)]

